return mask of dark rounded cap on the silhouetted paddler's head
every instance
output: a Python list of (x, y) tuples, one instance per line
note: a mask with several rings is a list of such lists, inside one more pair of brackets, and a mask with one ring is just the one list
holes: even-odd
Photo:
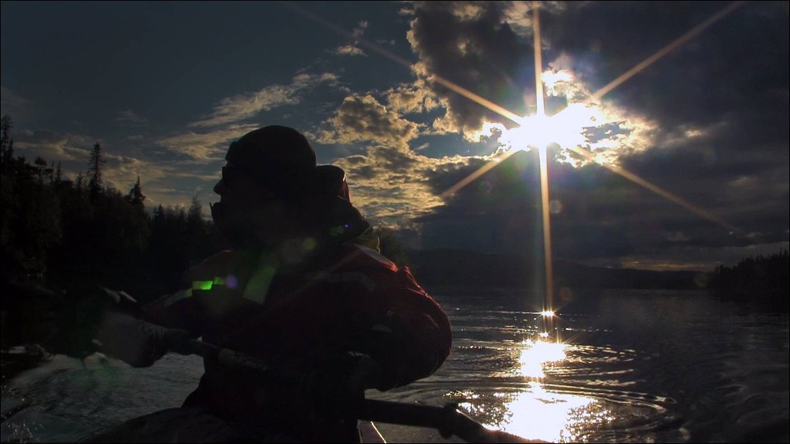
[(265, 126), (231, 143), (225, 160), (254, 176), (305, 175), (315, 168), (315, 150), (288, 126)]

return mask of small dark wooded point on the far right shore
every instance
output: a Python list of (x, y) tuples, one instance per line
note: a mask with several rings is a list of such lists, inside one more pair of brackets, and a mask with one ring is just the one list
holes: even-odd
[(758, 255), (728, 267), (719, 265), (711, 273), (708, 289), (720, 299), (744, 300), (788, 311), (788, 250), (769, 257)]

